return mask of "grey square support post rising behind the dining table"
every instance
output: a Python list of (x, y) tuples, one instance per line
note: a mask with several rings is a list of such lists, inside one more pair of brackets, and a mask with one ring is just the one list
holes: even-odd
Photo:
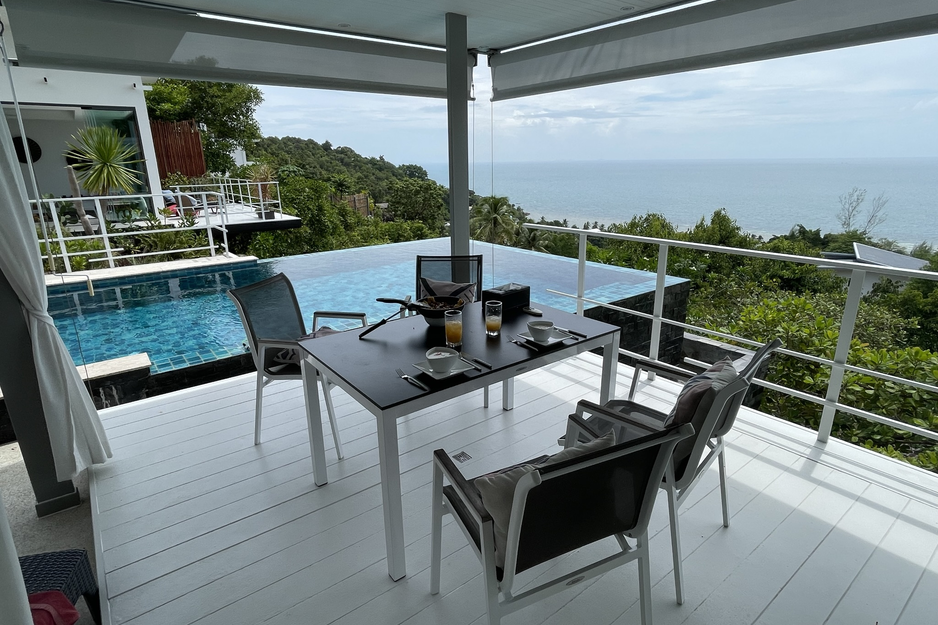
[(466, 16), (446, 14), (446, 116), (449, 134), (449, 237), (469, 253), (469, 36)]

